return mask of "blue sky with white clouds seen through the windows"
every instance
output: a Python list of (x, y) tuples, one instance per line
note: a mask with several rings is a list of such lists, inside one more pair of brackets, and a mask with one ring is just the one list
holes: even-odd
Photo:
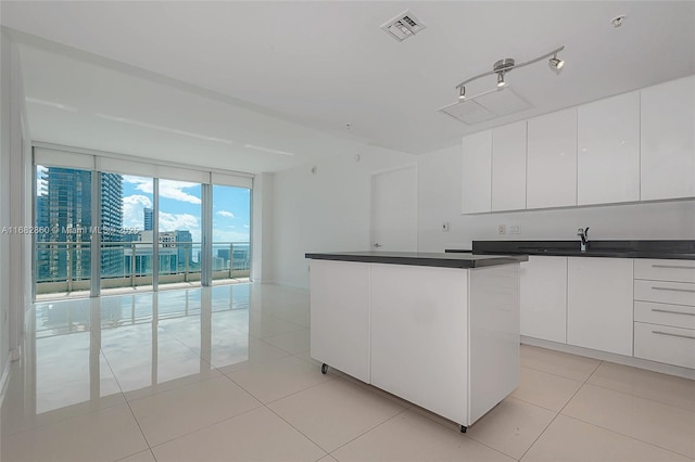
[[(160, 231), (188, 230), (201, 240), (201, 185), (160, 180)], [(213, 185), (213, 241), (248, 242), (250, 190)], [(152, 179), (123, 177), (123, 226), (143, 229), (146, 207), (153, 204)]]

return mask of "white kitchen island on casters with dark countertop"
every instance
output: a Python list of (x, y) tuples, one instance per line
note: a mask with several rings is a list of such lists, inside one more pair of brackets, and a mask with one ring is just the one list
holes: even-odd
[(311, 355), (460, 424), (519, 383), (525, 255), (321, 253), (311, 258)]

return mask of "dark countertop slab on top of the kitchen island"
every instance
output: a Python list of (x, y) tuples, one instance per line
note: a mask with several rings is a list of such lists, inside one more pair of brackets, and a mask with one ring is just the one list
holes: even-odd
[(412, 265), (441, 268), (481, 268), (518, 264), (529, 259), (526, 255), (471, 255), (464, 253), (419, 252), (332, 252), (309, 253), (306, 258), (317, 260), (362, 261), (367, 264)]

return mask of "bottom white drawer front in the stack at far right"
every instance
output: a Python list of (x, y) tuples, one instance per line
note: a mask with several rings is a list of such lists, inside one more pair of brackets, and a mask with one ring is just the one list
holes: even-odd
[(695, 331), (635, 322), (634, 357), (695, 369)]

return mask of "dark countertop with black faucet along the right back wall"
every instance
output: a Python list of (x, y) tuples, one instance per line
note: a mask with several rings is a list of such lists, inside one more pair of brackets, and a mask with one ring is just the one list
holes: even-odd
[[(456, 253), (456, 249), (446, 249)], [(547, 255), (564, 257), (664, 258), (695, 260), (695, 241), (473, 241), (475, 255)]]

